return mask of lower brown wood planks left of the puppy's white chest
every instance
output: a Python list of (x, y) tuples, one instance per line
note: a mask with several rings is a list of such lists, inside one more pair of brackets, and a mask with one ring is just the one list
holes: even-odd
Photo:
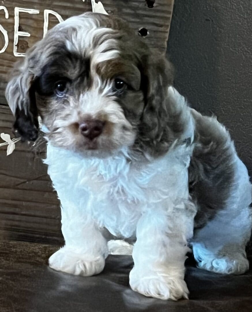
[[(0, 133), (12, 135), (13, 117), (0, 105)], [(1, 140), (2, 141), (2, 140)], [(6, 156), (0, 148), (0, 237), (62, 244), (60, 206), (42, 163), (45, 144), (38, 147), (18, 142)]]

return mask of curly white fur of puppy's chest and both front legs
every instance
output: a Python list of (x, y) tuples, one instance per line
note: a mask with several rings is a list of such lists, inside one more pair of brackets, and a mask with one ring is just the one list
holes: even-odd
[[(193, 137), (188, 116), (185, 135)], [(83, 158), (49, 142), (45, 163), (60, 198), (65, 238), (50, 266), (72, 274), (99, 273), (108, 254), (106, 228), (114, 236), (137, 238), (132, 289), (162, 299), (187, 298), (184, 261), (196, 213), (187, 187), (191, 152), (191, 145), (174, 144), (164, 157), (145, 161), (125, 149), (108, 158)]]

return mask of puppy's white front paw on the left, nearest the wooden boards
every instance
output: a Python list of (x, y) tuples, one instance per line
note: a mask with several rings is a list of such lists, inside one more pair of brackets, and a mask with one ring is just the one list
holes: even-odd
[(49, 266), (56, 271), (83, 276), (99, 274), (105, 265), (103, 256), (87, 256), (66, 246), (50, 256), (48, 262)]

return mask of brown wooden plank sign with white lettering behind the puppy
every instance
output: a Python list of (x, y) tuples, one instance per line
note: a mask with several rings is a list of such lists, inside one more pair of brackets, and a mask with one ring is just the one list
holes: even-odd
[[(99, 4), (94, 0), (3, 0), (0, 4), (0, 133), (13, 137), (12, 113), (1, 105), (6, 103), (8, 71), (47, 29)], [(173, 0), (101, 0), (101, 4), (165, 53)], [(36, 145), (34, 149), (18, 143), (9, 156), (6, 146), (0, 147), (0, 238), (62, 244), (59, 201), (41, 160), (45, 145)]]

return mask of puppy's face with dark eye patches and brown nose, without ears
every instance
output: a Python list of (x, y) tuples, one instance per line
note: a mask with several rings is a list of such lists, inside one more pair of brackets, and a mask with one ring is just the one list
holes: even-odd
[[(111, 47), (105, 41), (103, 48)], [(79, 55), (63, 48), (35, 84), (38, 114), (50, 141), (78, 151), (132, 145), (144, 107), (140, 80), (137, 66), (117, 50), (94, 49), (91, 55), (84, 49)]]

